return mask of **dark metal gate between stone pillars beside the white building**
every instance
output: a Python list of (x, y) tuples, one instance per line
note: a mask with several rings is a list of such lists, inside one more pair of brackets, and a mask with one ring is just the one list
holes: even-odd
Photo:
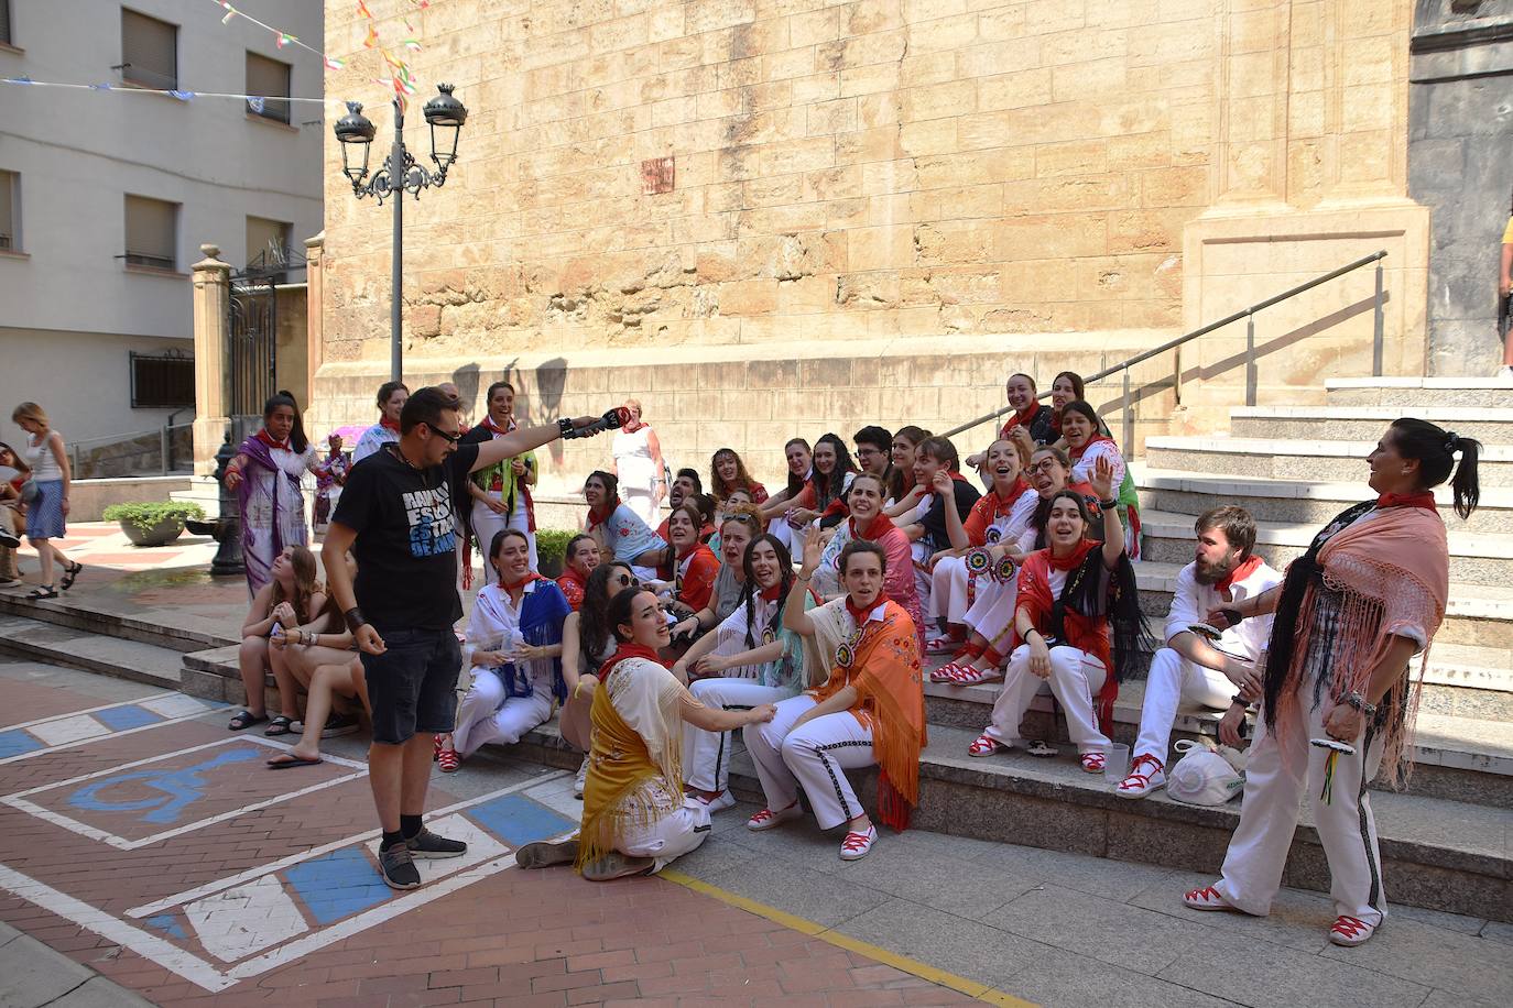
[(303, 255), (274, 245), (231, 274), (228, 413), (235, 428), (256, 431), (263, 404), (278, 390), (278, 284), (301, 269)]

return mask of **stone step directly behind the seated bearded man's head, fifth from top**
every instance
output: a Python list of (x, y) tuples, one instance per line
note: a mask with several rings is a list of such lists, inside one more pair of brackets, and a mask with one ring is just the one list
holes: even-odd
[[(1307, 552), (1319, 526), (1312, 523), (1257, 521), (1256, 552), (1277, 570)], [(1142, 511), (1141, 556), (1165, 564), (1192, 559), (1192, 515)], [(1449, 577), (1469, 585), (1513, 583), (1513, 535), (1454, 530), (1449, 533)]]

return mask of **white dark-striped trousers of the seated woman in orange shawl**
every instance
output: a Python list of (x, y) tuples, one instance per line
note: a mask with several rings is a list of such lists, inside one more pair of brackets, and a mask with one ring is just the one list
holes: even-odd
[(799, 799), (802, 784), (820, 828), (832, 830), (864, 812), (846, 771), (875, 766), (878, 760), (871, 751), (871, 728), (864, 728), (849, 710), (793, 728), (793, 722), (814, 706), (814, 697), (806, 694), (790, 697), (778, 704), (776, 718), (749, 724), (741, 731), (756, 763), (767, 807), (787, 809)]

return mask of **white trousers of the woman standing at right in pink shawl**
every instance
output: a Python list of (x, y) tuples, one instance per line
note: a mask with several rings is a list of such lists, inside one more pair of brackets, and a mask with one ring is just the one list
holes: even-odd
[(1330, 799), (1324, 801), (1321, 790), (1330, 750), (1310, 745), (1309, 739), (1327, 737), (1322, 706), (1328, 700), (1321, 709), (1312, 709), (1312, 704), (1310, 677), (1298, 691), (1298, 707), (1291, 721), (1283, 725), (1278, 718), (1280, 739), (1266, 730), (1262, 719), (1245, 762), (1239, 827), (1224, 855), (1224, 878), (1213, 887), (1245, 913), (1263, 917), (1271, 911), (1298, 827), (1298, 801), (1307, 787), (1313, 827), (1328, 860), (1334, 914), (1378, 925), (1387, 916), (1387, 898), (1381, 887), (1377, 821), (1371, 815), (1366, 784), (1381, 768), (1381, 739), (1369, 725), (1363, 739), (1351, 739), (1356, 754), (1339, 754)]

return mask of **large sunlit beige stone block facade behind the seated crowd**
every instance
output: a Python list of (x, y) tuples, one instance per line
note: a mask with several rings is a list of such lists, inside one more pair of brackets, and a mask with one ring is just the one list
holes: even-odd
[[(369, 6), (471, 110), (407, 204), (415, 379), (523, 375), (537, 417), (635, 394), (679, 461), (732, 444), (775, 478), (794, 432), (944, 429), (1014, 367), (1095, 370), (1378, 248), (1389, 372), (1422, 367), (1409, 0)], [(327, 89), (371, 101), (378, 157), (354, 18), (328, 0)], [(328, 139), (318, 423), (387, 376), (389, 215), (339, 168)], [(1368, 269), (1259, 316), (1269, 400), (1369, 373), (1372, 293)], [(1235, 339), (1183, 352), (1180, 402), (1176, 355), (1147, 366), (1142, 431), (1242, 396)]]

